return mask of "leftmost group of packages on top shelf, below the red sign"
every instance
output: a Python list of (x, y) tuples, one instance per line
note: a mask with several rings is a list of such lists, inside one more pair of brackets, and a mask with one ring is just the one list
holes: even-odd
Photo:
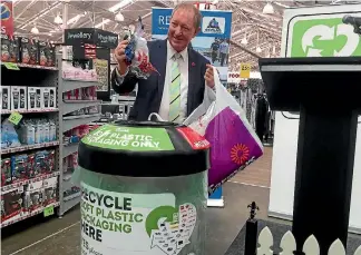
[(1, 61), (20, 61), (20, 43), (18, 37), (1, 35)]

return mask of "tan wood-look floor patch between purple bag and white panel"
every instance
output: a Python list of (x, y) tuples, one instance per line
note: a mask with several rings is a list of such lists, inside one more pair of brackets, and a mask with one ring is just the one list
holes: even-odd
[(240, 171), (231, 182), (270, 188), (272, 154), (272, 147), (264, 147), (264, 155), (243, 171)]

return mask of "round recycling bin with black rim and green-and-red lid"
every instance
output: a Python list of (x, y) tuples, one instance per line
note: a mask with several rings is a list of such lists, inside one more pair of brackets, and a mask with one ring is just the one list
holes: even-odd
[(81, 254), (205, 255), (209, 143), (185, 126), (107, 124), (79, 144)]

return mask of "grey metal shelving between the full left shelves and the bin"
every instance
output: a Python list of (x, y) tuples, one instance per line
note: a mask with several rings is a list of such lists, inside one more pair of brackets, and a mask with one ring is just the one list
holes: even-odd
[[(76, 127), (81, 125), (90, 124), (92, 121), (100, 119), (100, 100), (64, 100), (62, 94), (81, 89), (87, 87), (97, 86), (97, 81), (81, 81), (81, 80), (70, 80), (62, 79), (59, 77), (59, 84), (61, 88), (61, 107), (60, 107), (60, 116), (61, 116), (61, 130), (62, 133), (69, 131)], [(97, 107), (98, 114), (90, 115), (75, 115), (75, 116), (66, 116), (70, 112), (87, 108), (87, 107)], [(75, 207), (80, 203), (80, 193), (74, 193), (70, 195), (65, 195), (65, 192), (71, 189), (76, 185), (71, 183), (71, 174), (72, 173), (64, 173), (64, 161), (62, 159), (77, 153), (78, 144), (77, 143), (65, 143), (64, 139), (60, 140), (61, 148), (61, 174), (60, 174), (60, 210), (59, 216), (61, 217), (66, 212)]]

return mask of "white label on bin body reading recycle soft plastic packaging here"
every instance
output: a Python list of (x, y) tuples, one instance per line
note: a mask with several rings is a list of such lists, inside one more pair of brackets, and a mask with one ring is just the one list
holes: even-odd
[(82, 255), (177, 255), (197, 220), (173, 194), (119, 194), (81, 184)]

